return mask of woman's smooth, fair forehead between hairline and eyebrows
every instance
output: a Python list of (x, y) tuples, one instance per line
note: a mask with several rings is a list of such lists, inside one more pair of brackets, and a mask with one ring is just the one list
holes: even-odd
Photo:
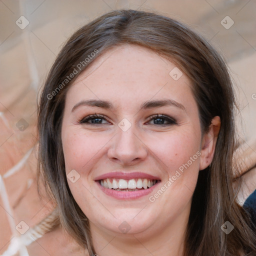
[(173, 72), (178, 77), (182, 74), (174, 62), (150, 49), (134, 44), (115, 46), (77, 77), (68, 94), (76, 100), (112, 99), (116, 105), (118, 101), (139, 101), (140, 105), (158, 98), (191, 101), (190, 80), (184, 73), (173, 79)]

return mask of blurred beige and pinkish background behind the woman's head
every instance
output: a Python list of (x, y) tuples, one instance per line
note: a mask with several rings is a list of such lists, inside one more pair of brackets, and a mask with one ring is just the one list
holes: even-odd
[(157, 11), (207, 38), (235, 84), (239, 134), (256, 137), (255, 0), (0, 0), (0, 254), (52, 209), (36, 183), (36, 104), (45, 76), (77, 28), (121, 8)]

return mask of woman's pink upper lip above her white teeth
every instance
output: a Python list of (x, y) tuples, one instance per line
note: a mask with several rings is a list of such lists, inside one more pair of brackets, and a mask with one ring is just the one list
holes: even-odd
[(143, 173), (143, 172), (122, 172), (122, 171), (114, 171), (104, 173), (94, 178), (94, 180), (106, 179), (106, 178), (122, 178), (122, 179), (132, 179), (132, 178), (148, 178), (148, 179), (160, 179), (159, 177)]

